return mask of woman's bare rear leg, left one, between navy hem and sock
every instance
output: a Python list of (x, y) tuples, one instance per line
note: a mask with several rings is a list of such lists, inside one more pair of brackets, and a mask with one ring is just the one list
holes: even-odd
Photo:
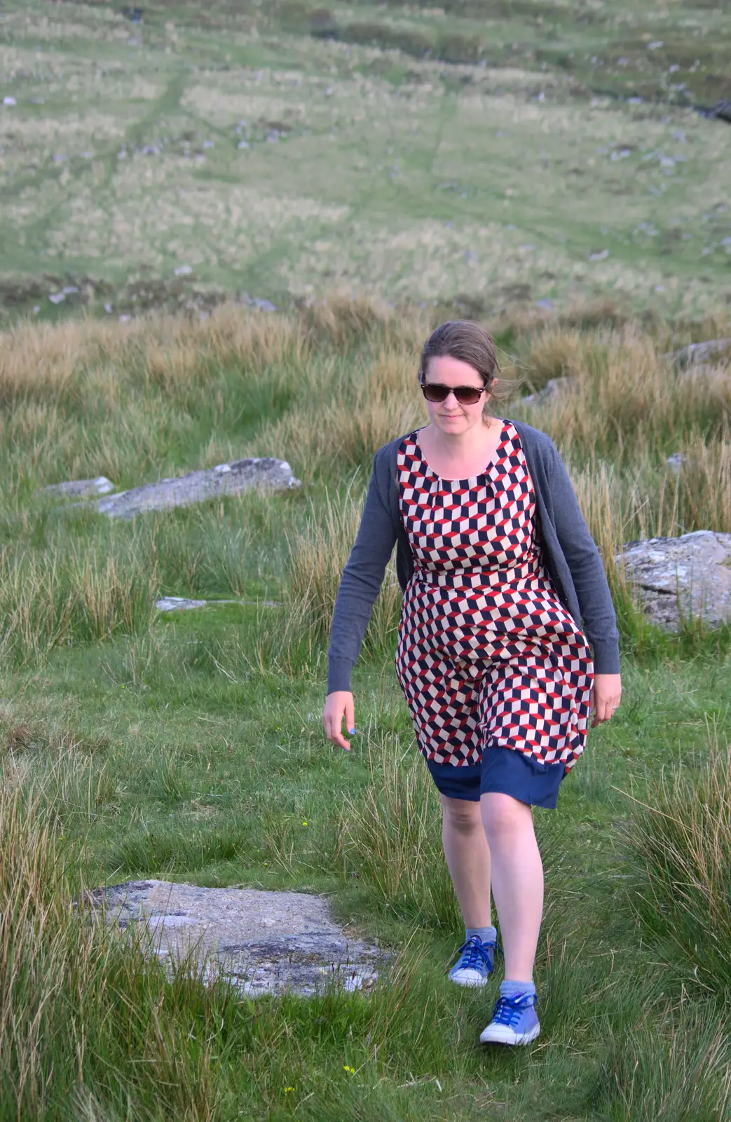
[(479, 802), (441, 794), (442, 844), (465, 927), (490, 927), (490, 848)]

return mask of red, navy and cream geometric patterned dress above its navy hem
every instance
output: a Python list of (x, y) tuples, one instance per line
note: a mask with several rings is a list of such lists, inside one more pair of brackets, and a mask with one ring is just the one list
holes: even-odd
[(396, 672), (419, 749), (459, 767), (513, 748), (568, 771), (586, 743), (592, 655), (542, 562), (518, 432), (503, 421), (484, 471), (455, 480), (432, 470), (417, 434), (397, 458), (415, 569)]

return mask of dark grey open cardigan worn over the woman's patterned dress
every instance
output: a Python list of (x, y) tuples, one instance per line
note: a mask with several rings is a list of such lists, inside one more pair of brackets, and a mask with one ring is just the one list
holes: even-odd
[[(604, 565), (554, 442), (522, 421), (518, 430), (536, 493), (537, 540), (562, 603), (592, 645), (594, 671), (619, 673), (619, 634)], [(350, 690), (373, 604), (396, 544), (401, 591), (414, 554), (399, 514), (396, 457), (404, 436), (379, 448), (360, 528), (337, 589), (327, 652), (327, 692)]]

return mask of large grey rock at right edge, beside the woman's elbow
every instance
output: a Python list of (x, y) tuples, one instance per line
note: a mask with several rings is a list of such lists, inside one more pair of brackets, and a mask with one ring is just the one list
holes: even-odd
[(678, 631), (681, 616), (711, 627), (731, 620), (731, 534), (696, 530), (681, 537), (628, 542), (617, 555), (651, 623)]

